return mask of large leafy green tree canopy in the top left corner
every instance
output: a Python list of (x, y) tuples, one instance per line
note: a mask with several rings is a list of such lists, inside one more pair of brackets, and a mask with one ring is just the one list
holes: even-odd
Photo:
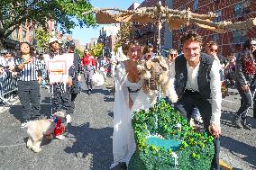
[(3, 42), (20, 25), (32, 23), (47, 28), (51, 19), (63, 33), (76, 26), (95, 26), (92, 5), (87, 0), (1, 0), (0, 40)]

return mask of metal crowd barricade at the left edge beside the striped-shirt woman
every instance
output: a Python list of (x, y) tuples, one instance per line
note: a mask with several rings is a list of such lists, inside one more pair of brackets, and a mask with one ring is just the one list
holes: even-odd
[(18, 91), (17, 79), (12, 76), (11, 72), (0, 74), (0, 102), (12, 105), (11, 99), (14, 92)]

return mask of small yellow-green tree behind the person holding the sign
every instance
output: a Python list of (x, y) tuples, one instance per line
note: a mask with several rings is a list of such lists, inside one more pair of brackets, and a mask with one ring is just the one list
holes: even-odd
[(35, 30), (35, 39), (37, 49), (45, 52), (48, 50), (48, 42), (50, 40), (50, 33), (42, 28)]

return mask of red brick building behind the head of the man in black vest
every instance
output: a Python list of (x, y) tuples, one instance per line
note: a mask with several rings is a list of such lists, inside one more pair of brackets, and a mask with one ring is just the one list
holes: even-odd
[[(242, 22), (248, 18), (256, 17), (256, 1), (255, 0), (173, 0), (173, 8), (183, 10), (190, 8), (193, 13), (214, 12), (218, 14), (215, 22), (231, 21)], [(204, 40), (204, 44), (208, 40), (215, 40), (220, 46), (219, 51), (224, 55), (238, 50), (242, 47), (247, 37), (256, 36), (256, 28), (247, 30), (227, 31), (224, 34), (218, 34), (214, 31), (208, 31), (198, 28), (196, 25), (189, 25), (183, 29), (173, 32), (173, 46), (180, 49), (179, 38), (184, 31), (197, 31)]]

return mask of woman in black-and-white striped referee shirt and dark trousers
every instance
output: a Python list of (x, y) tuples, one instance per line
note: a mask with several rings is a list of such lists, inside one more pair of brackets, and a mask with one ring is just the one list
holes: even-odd
[(21, 57), (14, 59), (14, 70), (19, 73), (18, 95), (23, 104), (22, 128), (28, 121), (41, 117), (40, 113), (40, 84), (41, 67), (39, 59), (31, 55), (31, 47), (28, 42), (20, 45)]

